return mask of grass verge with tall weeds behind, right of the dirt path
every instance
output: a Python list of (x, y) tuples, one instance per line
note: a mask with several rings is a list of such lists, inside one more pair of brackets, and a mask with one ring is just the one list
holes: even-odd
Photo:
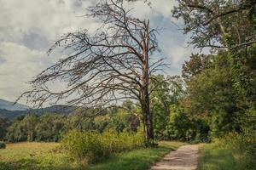
[(229, 133), (201, 148), (201, 170), (256, 169), (256, 133)]

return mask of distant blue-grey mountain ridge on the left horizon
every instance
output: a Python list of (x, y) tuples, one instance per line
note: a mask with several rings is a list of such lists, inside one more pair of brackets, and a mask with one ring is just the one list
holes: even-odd
[(68, 115), (75, 110), (76, 107), (67, 107), (66, 105), (53, 105), (45, 107), (42, 109), (29, 109), (26, 105), (15, 104), (12, 102), (0, 99), (0, 116), (6, 117), (10, 120), (15, 119), (15, 117), (27, 115), (27, 114), (37, 114), (42, 115), (44, 113), (56, 113)]

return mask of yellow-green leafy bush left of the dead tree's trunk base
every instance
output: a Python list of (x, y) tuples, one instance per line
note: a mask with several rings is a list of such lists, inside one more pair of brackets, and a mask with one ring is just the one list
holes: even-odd
[(62, 141), (61, 147), (75, 160), (94, 162), (111, 153), (132, 150), (144, 144), (141, 133), (117, 133), (108, 131), (80, 132), (70, 131)]

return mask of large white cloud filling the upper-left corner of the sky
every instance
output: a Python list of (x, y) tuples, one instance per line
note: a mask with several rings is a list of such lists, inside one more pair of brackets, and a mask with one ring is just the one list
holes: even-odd
[[(60, 3), (61, 2), (61, 3)], [(90, 1), (79, 0), (1, 0), (1, 38), (20, 41), (30, 32), (37, 31), (49, 41), (62, 33), (96, 24), (82, 16)]]

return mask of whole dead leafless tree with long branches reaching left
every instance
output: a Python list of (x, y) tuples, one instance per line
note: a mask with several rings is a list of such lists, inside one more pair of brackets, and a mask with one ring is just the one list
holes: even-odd
[[(32, 90), (22, 94), (27, 102), (67, 100), (68, 105), (106, 109), (123, 99), (133, 99), (142, 108), (145, 139), (154, 139), (153, 114), (149, 109), (150, 75), (159, 71), (163, 59), (151, 58), (158, 51), (156, 33), (149, 20), (138, 20), (122, 1), (104, 1), (88, 8), (87, 17), (102, 26), (91, 35), (87, 30), (65, 34), (49, 54), (61, 47), (65, 59), (50, 66), (32, 80)], [(62, 82), (65, 89), (53, 92), (49, 82)]]

